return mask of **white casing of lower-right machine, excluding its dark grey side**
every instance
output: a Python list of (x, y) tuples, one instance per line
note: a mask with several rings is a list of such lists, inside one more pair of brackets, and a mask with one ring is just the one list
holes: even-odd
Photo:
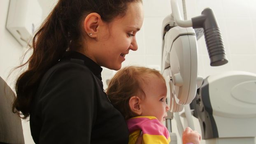
[[(255, 137), (256, 105), (241, 100), (250, 88), (240, 87), (242, 88), (240, 91), (244, 92), (240, 95), (241, 99), (236, 99), (232, 91), (238, 88), (238, 84), (255, 81), (256, 74), (229, 71), (210, 76), (207, 80), (209, 93), (212, 95), (210, 97), (212, 114), (218, 127), (219, 137)], [(256, 88), (255, 83), (251, 85), (252, 87)], [(229, 129), (231, 127), (232, 129)]]

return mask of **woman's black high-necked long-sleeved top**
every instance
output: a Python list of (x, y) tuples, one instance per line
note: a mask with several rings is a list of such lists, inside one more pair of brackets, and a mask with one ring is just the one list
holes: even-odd
[(103, 90), (101, 71), (69, 51), (44, 74), (30, 112), (36, 144), (128, 144), (126, 122)]

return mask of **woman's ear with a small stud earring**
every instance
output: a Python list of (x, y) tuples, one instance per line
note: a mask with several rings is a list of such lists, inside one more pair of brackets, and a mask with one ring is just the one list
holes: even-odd
[(84, 30), (86, 31), (89, 37), (97, 37), (98, 26), (102, 23), (101, 17), (98, 13), (91, 13), (86, 16), (84, 19)]

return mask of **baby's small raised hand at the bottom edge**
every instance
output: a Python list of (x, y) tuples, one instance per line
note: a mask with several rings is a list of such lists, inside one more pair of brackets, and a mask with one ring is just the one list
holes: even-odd
[(187, 127), (182, 134), (182, 141), (183, 144), (193, 143), (193, 144), (200, 144), (201, 135), (191, 128)]

